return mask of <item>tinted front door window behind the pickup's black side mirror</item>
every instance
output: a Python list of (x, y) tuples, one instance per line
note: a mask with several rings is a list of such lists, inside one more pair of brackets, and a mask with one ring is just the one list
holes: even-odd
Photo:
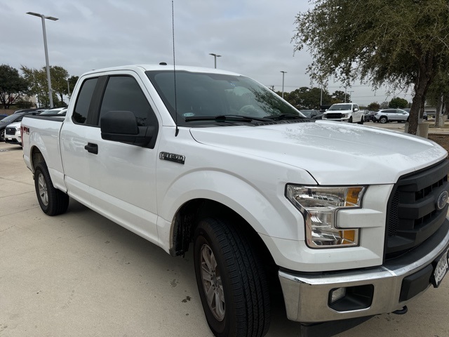
[(109, 111), (133, 112), (138, 126), (157, 125), (151, 105), (138, 82), (130, 76), (109, 77), (101, 103), (100, 120), (102, 115)]

